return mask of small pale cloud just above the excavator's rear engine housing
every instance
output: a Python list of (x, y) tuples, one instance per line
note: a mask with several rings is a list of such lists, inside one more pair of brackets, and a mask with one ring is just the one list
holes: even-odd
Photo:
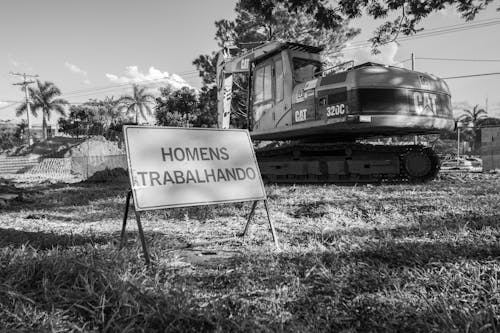
[(381, 46), (379, 48), (379, 54), (372, 54), (370, 46), (349, 49), (349, 45), (346, 45), (344, 59), (346, 61), (354, 60), (355, 65), (362, 64), (364, 62), (376, 62), (383, 65), (404, 67), (402, 63), (397, 62), (395, 59), (398, 49), (398, 44), (396, 42), (391, 42)]

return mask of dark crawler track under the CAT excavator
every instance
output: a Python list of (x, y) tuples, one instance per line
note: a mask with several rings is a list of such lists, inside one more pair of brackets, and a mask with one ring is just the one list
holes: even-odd
[(271, 183), (424, 183), (440, 168), (436, 153), (421, 145), (293, 143), (256, 155)]

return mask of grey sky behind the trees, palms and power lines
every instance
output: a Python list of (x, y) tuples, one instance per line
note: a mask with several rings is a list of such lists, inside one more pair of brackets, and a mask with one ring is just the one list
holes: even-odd
[[(19, 77), (39, 75), (54, 82), (71, 103), (119, 97), (127, 83), (169, 77), (179, 86), (200, 87), (192, 61), (217, 51), (214, 22), (233, 19), (236, 0), (16, 0), (0, 2), (0, 119), (19, 122), (15, 106), (24, 97)], [(368, 17), (351, 21), (362, 33), (350, 42), (345, 59), (376, 61), (439, 77), (500, 72), (498, 3), (466, 23), (454, 8), (424, 19), (422, 36), (384, 46), (373, 56), (363, 43), (382, 23)], [(496, 20), (496, 21), (495, 21)], [(498, 22), (497, 22), (498, 21)], [(487, 25), (486, 25), (487, 24)], [(479, 26), (478, 26), (479, 25)], [(426, 36), (446, 27), (465, 29)], [(362, 47), (360, 47), (360, 45)], [(481, 61), (430, 60), (421, 58)], [(495, 61), (483, 61), (495, 60)], [(447, 80), (459, 108), (479, 104), (500, 117), (500, 75)], [(459, 110), (457, 112), (460, 112)], [(33, 121), (41, 123), (41, 117)]]

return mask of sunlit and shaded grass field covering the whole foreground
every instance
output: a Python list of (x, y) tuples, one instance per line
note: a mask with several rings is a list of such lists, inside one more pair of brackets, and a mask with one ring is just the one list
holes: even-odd
[[(445, 176), (443, 176), (445, 177)], [(500, 177), (267, 186), (263, 205), (143, 214), (126, 183), (46, 184), (0, 215), (6, 332), (498, 332)], [(133, 215), (133, 214), (132, 214)]]

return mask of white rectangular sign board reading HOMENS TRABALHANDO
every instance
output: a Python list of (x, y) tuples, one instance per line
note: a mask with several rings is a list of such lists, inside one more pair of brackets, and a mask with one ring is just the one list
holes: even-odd
[(124, 126), (137, 210), (265, 200), (247, 130)]

